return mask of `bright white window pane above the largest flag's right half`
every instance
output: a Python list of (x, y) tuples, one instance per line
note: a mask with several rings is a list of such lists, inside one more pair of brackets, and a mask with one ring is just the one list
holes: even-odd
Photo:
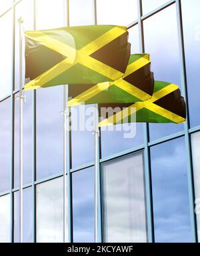
[(98, 24), (129, 25), (137, 19), (137, 0), (97, 0)]

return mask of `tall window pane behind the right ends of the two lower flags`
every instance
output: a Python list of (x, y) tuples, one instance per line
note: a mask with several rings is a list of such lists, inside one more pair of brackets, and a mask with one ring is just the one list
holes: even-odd
[[(151, 55), (151, 67), (155, 80), (175, 83), (181, 87), (175, 5), (145, 20), (144, 33), (145, 52)], [(160, 139), (182, 130), (183, 125), (150, 124), (150, 139)]]

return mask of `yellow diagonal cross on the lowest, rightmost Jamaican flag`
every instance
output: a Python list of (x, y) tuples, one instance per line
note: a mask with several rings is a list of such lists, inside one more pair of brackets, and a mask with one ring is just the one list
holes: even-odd
[(183, 123), (185, 121), (185, 119), (183, 117), (180, 117), (179, 115), (177, 115), (167, 109), (164, 109), (163, 107), (159, 107), (158, 105), (156, 105), (154, 103), (158, 99), (165, 97), (166, 95), (168, 95), (169, 93), (172, 93), (173, 91), (176, 91), (177, 89), (179, 89), (179, 87), (177, 85), (174, 85), (174, 84), (168, 85), (167, 87), (154, 93), (153, 97), (151, 97), (151, 99), (149, 99), (148, 101), (137, 102), (137, 103), (129, 106), (128, 111), (127, 111), (127, 109), (123, 109), (122, 111), (119, 111), (115, 115), (112, 115), (111, 117), (101, 121), (99, 123), (99, 127), (109, 126), (109, 125), (113, 125), (115, 123), (119, 123), (123, 119), (127, 118), (129, 115), (132, 115), (133, 113), (135, 113), (143, 108), (149, 109), (150, 111), (153, 111), (153, 112), (157, 113), (158, 115), (161, 115), (161, 116), (173, 121), (174, 123)]

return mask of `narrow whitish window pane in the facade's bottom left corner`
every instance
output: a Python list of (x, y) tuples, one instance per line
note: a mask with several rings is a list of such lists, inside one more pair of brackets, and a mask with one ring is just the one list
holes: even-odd
[(0, 243), (10, 241), (11, 202), (10, 195), (0, 197)]

